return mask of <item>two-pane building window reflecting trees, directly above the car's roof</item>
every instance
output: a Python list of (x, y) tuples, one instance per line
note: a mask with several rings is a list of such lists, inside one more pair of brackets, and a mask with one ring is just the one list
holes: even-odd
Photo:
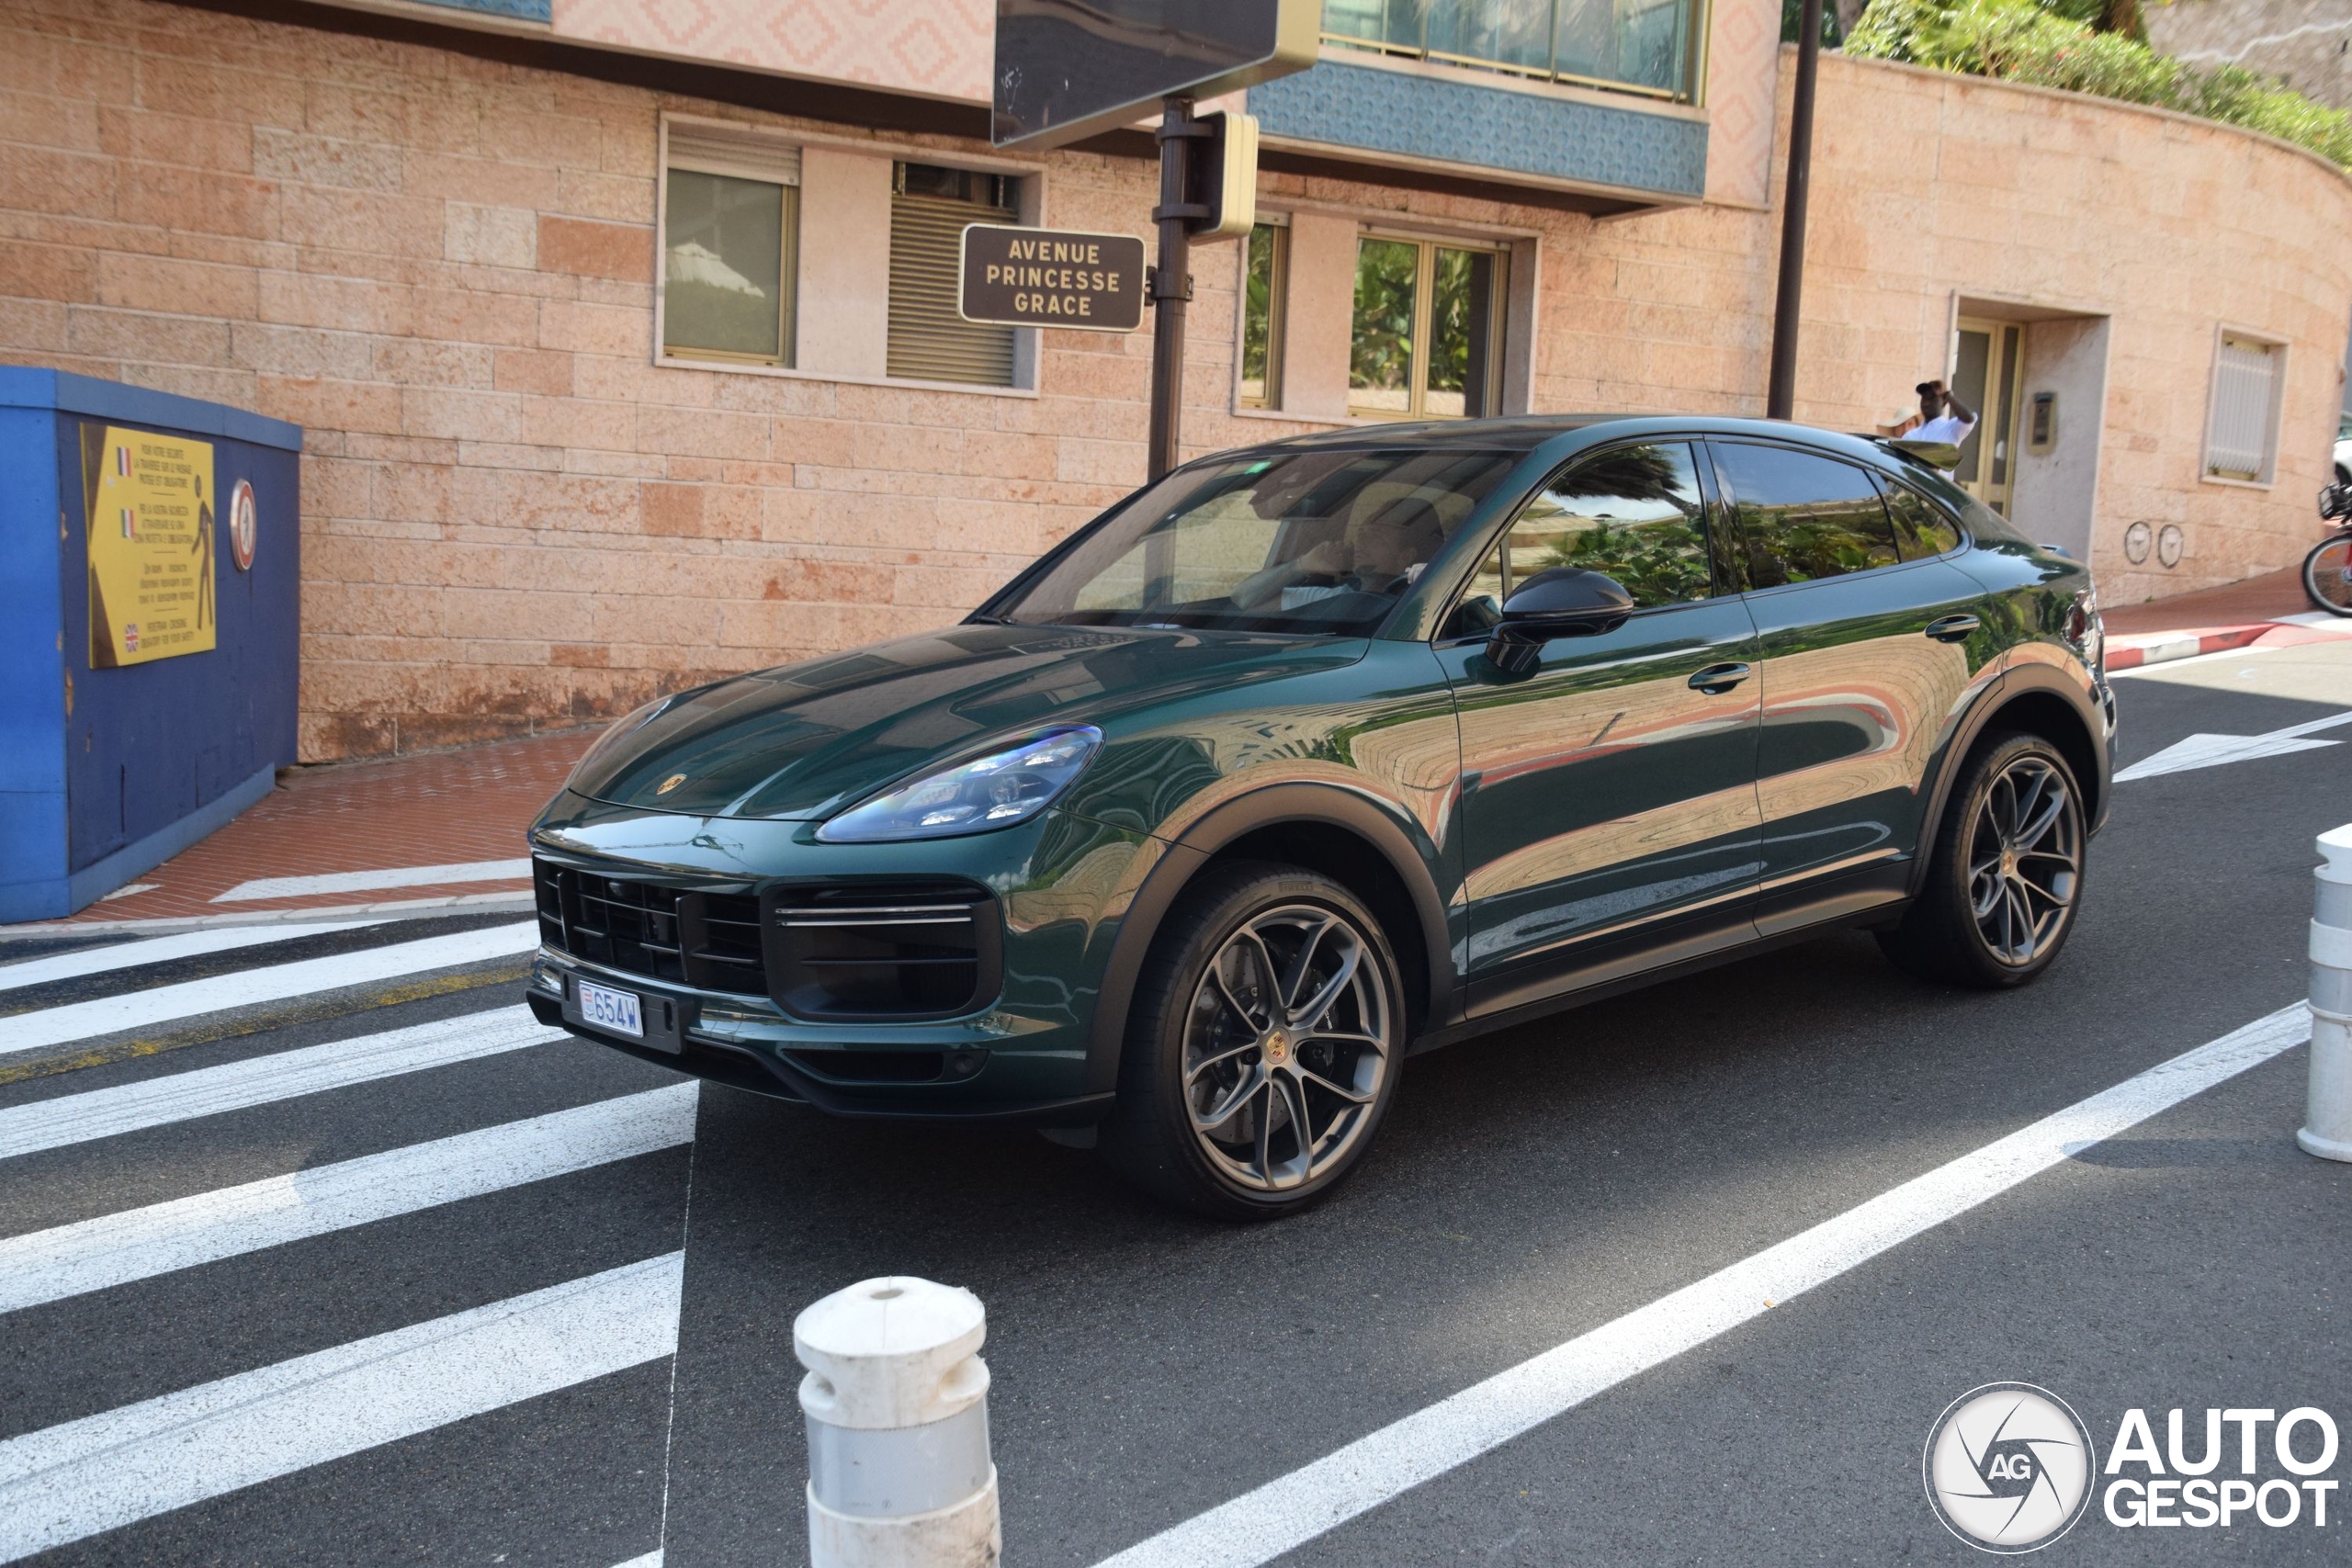
[(1505, 259), (1439, 240), (1355, 247), (1348, 411), (1479, 418), (1501, 409)]

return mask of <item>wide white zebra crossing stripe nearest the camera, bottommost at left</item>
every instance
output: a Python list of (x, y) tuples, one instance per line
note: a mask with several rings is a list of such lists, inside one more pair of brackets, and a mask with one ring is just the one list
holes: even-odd
[(0, 1443), (0, 1561), (677, 1352), (684, 1253)]

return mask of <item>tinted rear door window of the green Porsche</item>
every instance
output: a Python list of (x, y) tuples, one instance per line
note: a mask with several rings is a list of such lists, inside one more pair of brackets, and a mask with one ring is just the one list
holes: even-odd
[(1738, 508), (1748, 585), (1813, 583), (1896, 564), (1877, 484), (1853, 463), (1719, 442), (1715, 470)]

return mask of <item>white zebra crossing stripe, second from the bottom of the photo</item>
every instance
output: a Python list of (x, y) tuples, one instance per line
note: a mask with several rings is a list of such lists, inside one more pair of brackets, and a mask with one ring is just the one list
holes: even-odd
[(694, 1143), (696, 1084), (0, 1239), (0, 1312)]

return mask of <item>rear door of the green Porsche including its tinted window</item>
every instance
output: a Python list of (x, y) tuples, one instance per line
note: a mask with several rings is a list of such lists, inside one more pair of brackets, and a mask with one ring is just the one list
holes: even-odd
[(1907, 891), (1936, 766), (1997, 668), (1985, 588), (1943, 555), (1957, 531), (1905, 515), (1898, 545), (1879, 480), (1823, 451), (1710, 451), (1762, 651), (1757, 929), (1771, 936)]

